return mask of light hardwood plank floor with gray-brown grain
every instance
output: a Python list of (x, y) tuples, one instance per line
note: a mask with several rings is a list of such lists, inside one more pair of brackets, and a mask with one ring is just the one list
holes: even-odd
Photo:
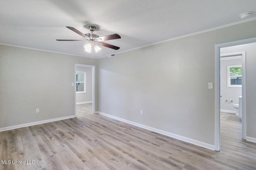
[[(221, 113), (216, 152), (102, 115), (77, 105), (77, 117), (0, 132), (1, 170), (255, 170), (256, 144), (241, 139), (241, 120)], [(200, 132), (198, 132), (200, 133)]]

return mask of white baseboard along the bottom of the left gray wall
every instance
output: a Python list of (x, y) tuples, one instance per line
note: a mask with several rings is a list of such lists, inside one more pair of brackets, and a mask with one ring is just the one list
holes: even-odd
[(59, 117), (59, 118), (55, 118), (55, 119), (48, 119), (48, 120), (42, 120), (42, 121), (36, 121), (36, 122), (25, 123), (25, 124), (21, 124), (21, 125), (2, 127), (2, 128), (0, 128), (0, 132), (12, 130), (12, 129), (18, 129), (18, 128), (21, 128), (21, 127), (28, 127), (28, 126), (39, 125), (39, 124), (43, 124), (43, 123), (49, 123), (49, 122), (53, 122), (53, 121), (70, 119), (70, 118), (74, 118), (74, 117), (76, 117), (76, 115), (71, 115), (71, 116), (66, 116), (66, 117)]

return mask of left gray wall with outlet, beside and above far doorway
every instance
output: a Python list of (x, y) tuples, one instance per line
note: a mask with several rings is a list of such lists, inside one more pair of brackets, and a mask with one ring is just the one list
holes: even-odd
[(0, 45), (0, 127), (74, 115), (75, 63), (98, 60)]

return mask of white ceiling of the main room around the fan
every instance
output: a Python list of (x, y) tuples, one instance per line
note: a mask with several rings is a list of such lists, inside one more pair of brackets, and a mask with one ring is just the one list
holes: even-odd
[(99, 36), (118, 33), (105, 41), (119, 50), (102, 47), (94, 57), (105, 57), (136, 47), (242, 21), (256, 0), (0, 0), (0, 43), (88, 56), (86, 42), (66, 26)]

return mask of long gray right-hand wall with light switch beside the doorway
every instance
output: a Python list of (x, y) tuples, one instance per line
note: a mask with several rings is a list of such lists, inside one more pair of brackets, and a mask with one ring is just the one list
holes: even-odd
[(215, 44), (255, 30), (253, 20), (100, 59), (99, 111), (214, 145)]

